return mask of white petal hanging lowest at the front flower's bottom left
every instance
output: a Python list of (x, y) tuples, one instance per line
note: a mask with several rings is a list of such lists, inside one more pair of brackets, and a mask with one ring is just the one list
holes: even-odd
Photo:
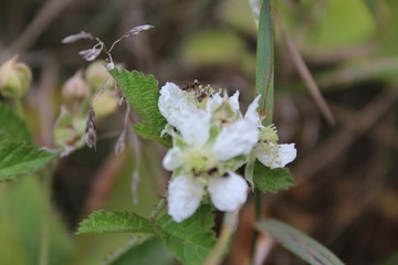
[(180, 176), (170, 180), (168, 187), (168, 214), (177, 223), (191, 216), (199, 208), (205, 188), (192, 177)]

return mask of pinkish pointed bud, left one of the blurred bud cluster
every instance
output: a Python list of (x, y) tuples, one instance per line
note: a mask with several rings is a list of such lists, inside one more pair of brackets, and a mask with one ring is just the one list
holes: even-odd
[(83, 99), (91, 94), (87, 83), (83, 80), (83, 72), (77, 71), (62, 87), (62, 95), (66, 99)]

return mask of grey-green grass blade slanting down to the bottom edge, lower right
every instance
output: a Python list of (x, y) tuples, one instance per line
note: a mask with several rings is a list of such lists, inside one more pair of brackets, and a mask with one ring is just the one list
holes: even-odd
[(344, 264), (318, 242), (281, 221), (261, 220), (255, 226), (258, 230), (269, 233), (281, 243), (283, 247), (312, 265)]

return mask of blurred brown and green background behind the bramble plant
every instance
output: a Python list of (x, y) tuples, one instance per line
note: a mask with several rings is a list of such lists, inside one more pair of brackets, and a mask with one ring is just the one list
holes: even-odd
[[(336, 126), (320, 114), (276, 26), (274, 121), (281, 142), (297, 145), (292, 165), (297, 184), (265, 195), (264, 214), (308, 233), (347, 264), (381, 264), (398, 252), (398, 1), (277, 0), (275, 7)], [(126, 68), (154, 74), (159, 86), (199, 80), (239, 89), (245, 104), (253, 98), (256, 25), (247, 1), (3, 1), (0, 63), (19, 53), (33, 70), (23, 104), (39, 146), (53, 147), (61, 87), (88, 65), (77, 52), (92, 43), (61, 40), (84, 30), (109, 45), (144, 23), (155, 29), (113, 51)], [(148, 216), (166, 190), (165, 149), (143, 140), (138, 165), (134, 148), (113, 153), (123, 112), (98, 120), (96, 151), (83, 148), (61, 159), (51, 189), (43, 172), (0, 184), (0, 264), (38, 264), (40, 255), (46, 256), (40, 250), (43, 233), (49, 234), (49, 264), (98, 264), (132, 237), (74, 235), (77, 223), (96, 209)], [(130, 188), (135, 169), (138, 204)], [(243, 240), (233, 242), (227, 264), (244, 264), (250, 202), (243, 212), (237, 234)], [(266, 264), (302, 262), (274, 247)]]

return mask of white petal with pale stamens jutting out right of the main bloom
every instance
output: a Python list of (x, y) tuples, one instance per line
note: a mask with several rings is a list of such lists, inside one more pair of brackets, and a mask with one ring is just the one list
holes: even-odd
[(273, 142), (262, 142), (255, 147), (254, 151), (260, 162), (271, 169), (285, 167), (297, 155), (294, 144), (276, 145)]

